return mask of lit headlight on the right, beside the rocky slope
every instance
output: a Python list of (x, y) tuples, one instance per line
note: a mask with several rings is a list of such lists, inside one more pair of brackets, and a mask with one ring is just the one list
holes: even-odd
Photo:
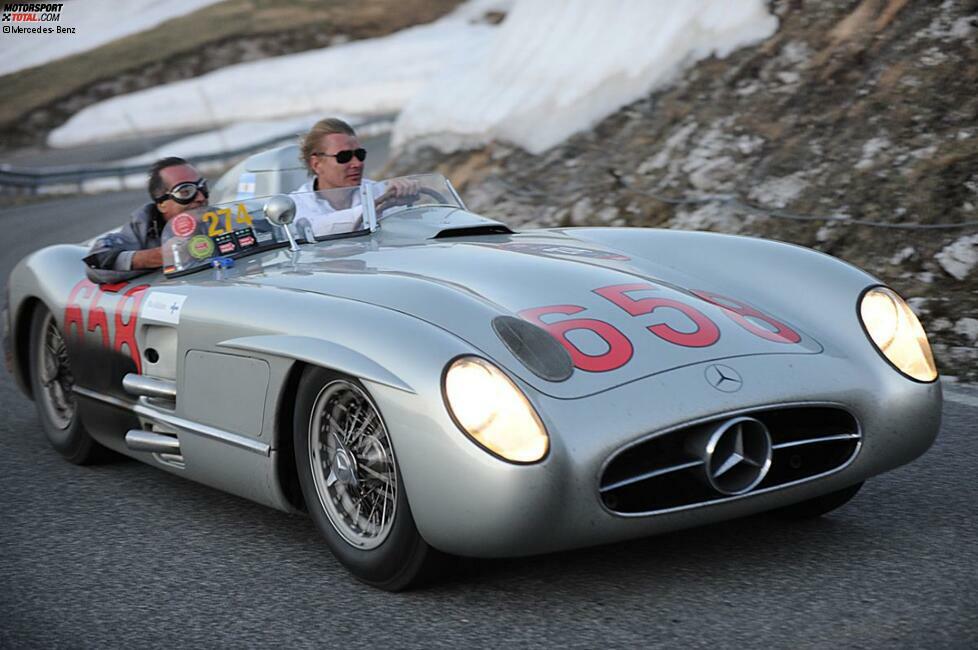
[(859, 317), (870, 340), (900, 372), (918, 381), (937, 379), (927, 334), (895, 291), (886, 287), (867, 291), (859, 304)]

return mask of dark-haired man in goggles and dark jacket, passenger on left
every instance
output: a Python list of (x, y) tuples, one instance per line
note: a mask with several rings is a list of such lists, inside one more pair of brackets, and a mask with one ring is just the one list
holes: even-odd
[(131, 277), (133, 271), (160, 268), (160, 235), (166, 222), (207, 203), (207, 179), (176, 156), (153, 163), (148, 190), (151, 202), (133, 212), (129, 223), (118, 232), (103, 235), (92, 244), (85, 257), (90, 279), (111, 282)]

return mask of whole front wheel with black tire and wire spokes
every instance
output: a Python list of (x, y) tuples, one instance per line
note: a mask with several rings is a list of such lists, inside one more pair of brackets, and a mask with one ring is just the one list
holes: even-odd
[(306, 507), (333, 555), (359, 580), (387, 591), (432, 577), (442, 554), (418, 533), (387, 427), (364, 387), (306, 368), (293, 435)]

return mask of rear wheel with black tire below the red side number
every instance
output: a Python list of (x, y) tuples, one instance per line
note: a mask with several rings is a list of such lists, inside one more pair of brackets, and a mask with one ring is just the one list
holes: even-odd
[(34, 405), (44, 434), (55, 450), (76, 465), (89, 465), (111, 458), (111, 452), (95, 442), (82, 426), (74, 377), (68, 363), (64, 335), (44, 306), (31, 318), (30, 381)]

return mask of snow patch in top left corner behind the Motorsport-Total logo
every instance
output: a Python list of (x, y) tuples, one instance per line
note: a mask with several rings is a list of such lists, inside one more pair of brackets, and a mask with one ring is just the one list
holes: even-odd
[(74, 34), (8, 34), (0, 39), (0, 75), (91, 50), (221, 0), (75, 0), (62, 2), (58, 22), (5, 25), (74, 27)]

